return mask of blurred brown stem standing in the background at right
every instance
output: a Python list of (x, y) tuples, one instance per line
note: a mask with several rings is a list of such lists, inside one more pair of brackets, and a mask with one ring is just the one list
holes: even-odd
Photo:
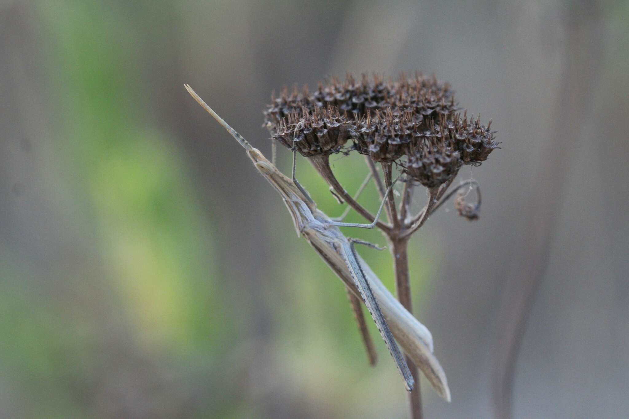
[(601, 28), (598, 6), (593, 1), (574, 2), (565, 16), (568, 42), (552, 136), (545, 144), (536, 171), (535, 193), (528, 209), (520, 257), (504, 285), (498, 312), (498, 339), (493, 373), (494, 413), (497, 419), (513, 416), (513, 381), (526, 320), (543, 278), (552, 242), (567, 166), (574, 144), (581, 136), (600, 52)]

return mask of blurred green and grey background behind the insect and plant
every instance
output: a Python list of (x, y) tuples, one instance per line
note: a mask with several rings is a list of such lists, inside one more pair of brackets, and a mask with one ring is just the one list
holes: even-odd
[[(577, 106), (559, 100), (574, 66), (594, 78), (565, 182), (545, 197), (559, 216), (515, 411), (628, 416), (629, 7), (588, 4), (0, 1), (0, 417), (406, 417), (384, 344), (367, 366), (342, 283), (183, 88), (270, 156), (271, 90), (401, 70), (451, 82), (504, 141), (461, 171), (482, 185), (481, 219), (450, 205), (410, 258), (414, 310), (453, 398), (424, 382), (426, 417), (491, 417), (501, 290), (526, 246), (545, 146)], [(597, 55), (571, 64), (582, 22)], [(357, 156), (333, 169), (350, 191), (366, 173)], [(298, 177), (342, 212), (304, 160)], [(376, 208), (374, 188), (362, 200)], [(388, 251), (360, 253), (392, 290)]]

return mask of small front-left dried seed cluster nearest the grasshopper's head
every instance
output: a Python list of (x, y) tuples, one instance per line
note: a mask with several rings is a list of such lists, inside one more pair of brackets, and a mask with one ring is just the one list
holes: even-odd
[(338, 153), (347, 142), (349, 122), (338, 109), (305, 107), (300, 113), (291, 112), (273, 129), (271, 137), (282, 145), (297, 150), (304, 157)]

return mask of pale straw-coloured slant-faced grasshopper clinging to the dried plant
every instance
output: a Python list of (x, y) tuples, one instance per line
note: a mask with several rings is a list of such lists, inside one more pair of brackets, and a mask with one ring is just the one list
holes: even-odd
[[(223, 121), (189, 85), (184, 86), (189, 94), (245, 148), (253, 166), (281, 195), (291, 214), (298, 237), (303, 236), (316, 253), (337, 273), (347, 289), (365, 303), (387, 349), (396, 362), (406, 389), (411, 391), (415, 382), (394, 337), (404, 352), (420, 367), (437, 393), (450, 401), (450, 389), (448, 389), (445, 373), (433, 355), (433, 339), (430, 331), (393, 297), (354, 248), (355, 243), (376, 246), (345, 237), (338, 229), (338, 227), (374, 228), (382, 212), (384, 200), (371, 224), (355, 224), (331, 219), (316, 207), (316, 203), (309, 197), (308, 192), (296, 180), (295, 154), (293, 154), (291, 179), (267, 160), (260, 150), (253, 148), (245, 138)], [(386, 191), (385, 199), (391, 192), (392, 186)]]

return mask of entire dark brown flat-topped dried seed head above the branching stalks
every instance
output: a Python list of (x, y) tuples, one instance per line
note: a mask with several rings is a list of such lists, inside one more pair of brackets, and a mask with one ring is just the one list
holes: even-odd
[(348, 75), (345, 82), (320, 83), (279, 97), (264, 112), (272, 138), (312, 157), (353, 147), (373, 161), (399, 163), (409, 178), (436, 187), (455, 177), (462, 164), (479, 165), (498, 148), (489, 125), (467, 119), (454, 92), (434, 76), (381, 77)]

